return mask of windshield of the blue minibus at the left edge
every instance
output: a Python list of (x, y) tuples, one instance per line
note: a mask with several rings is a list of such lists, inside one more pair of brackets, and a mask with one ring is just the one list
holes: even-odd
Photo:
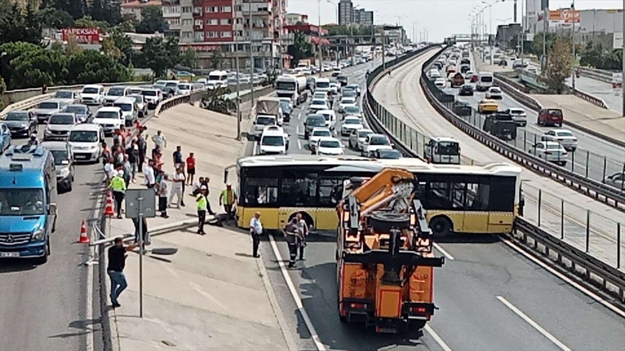
[(43, 200), (41, 189), (0, 188), (0, 215), (42, 215)]

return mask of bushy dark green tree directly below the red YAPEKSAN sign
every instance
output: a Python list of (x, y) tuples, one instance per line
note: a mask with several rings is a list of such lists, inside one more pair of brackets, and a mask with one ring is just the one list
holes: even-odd
[(133, 70), (97, 50), (83, 50), (69, 57), (67, 81), (71, 84), (128, 82)]

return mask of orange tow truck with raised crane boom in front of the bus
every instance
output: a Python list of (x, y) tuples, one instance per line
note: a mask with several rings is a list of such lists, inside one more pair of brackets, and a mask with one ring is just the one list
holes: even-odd
[(345, 180), (337, 205), (336, 277), (342, 322), (376, 332), (419, 331), (431, 319), (434, 267), (419, 183), (404, 169)]

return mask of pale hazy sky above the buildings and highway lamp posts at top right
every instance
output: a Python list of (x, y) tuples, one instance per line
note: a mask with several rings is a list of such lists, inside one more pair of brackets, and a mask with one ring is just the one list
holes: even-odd
[[(287, 0), (287, 11), (308, 15), (308, 22), (312, 24), (336, 23), (338, 0)], [(521, 21), (521, 1), (517, 1), (517, 22)], [(622, 0), (549, 0), (549, 8), (559, 9), (570, 7), (571, 1), (575, 8), (584, 9), (622, 9)], [(493, 0), (352, 0), (358, 8), (374, 11), (373, 18), (376, 24), (401, 24), (406, 29), (408, 37), (424, 37), (427, 32), (429, 41), (442, 41), (451, 34), (471, 33), (471, 12), (475, 6), (484, 6)], [(336, 6), (334, 5), (336, 4)], [(318, 7), (321, 9), (319, 16)], [(492, 18), (492, 31), (498, 24), (513, 22), (514, 6), (512, 0), (504, 0), (484, 11), (487, 26)], [(414, 26), (414, 30), (413, 30)]]

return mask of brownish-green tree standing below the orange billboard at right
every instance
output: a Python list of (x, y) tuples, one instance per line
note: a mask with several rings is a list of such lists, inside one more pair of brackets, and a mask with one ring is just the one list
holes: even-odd
[(549, 50), (547, 65), (541, 72), (539, 80), (544, 83), (551, 92), (562, 94), (564, 81), (571, 76), (571, 43), (565, 39), (556, 39)]

